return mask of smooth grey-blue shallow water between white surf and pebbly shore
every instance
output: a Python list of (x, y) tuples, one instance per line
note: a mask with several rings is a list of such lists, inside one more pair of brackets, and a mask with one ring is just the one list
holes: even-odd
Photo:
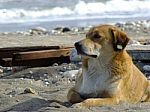
[(17, 32), (17, 31), (28, 31), (32, 28), (43, 27), (47, 30), (53, 30), (56, 27), (89, 27), (98, 24), (112, 24), (116, 23), (132, 23), (139, 21), (149, 21), (149, 18), (95, 18), (95, 19), (80, 19), (80, 20), (59, 20), (59, 21), (40, 21), (40, 22), (29, 22), (29, 23), (0, 23), (0, 33), (2, 32)]

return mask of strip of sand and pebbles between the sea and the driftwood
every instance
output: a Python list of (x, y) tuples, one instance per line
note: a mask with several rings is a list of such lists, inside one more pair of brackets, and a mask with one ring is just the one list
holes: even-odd
[[(150, 44), (150, 20), (132, 21), (125, 23), (113, 23), (123, 30), (133, 41), (141, 44)], [(35, 27), (27, 31), (1, 32), (0, 48), (20, 46), (49, 46), (69, 45), (85, 38), (85, 34), (92, 26), (88, 27), (65, 27), (59, 26), (52, 30), (44, 27)], [(64, 39), (65, 38), (65, 39)]]

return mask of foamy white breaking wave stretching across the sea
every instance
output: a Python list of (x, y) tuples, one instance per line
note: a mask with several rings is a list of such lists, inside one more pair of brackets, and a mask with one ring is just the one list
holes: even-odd
[(0, 23), (150, 16), (150, 0), (79, 1), (74, 7), (0, 9)]

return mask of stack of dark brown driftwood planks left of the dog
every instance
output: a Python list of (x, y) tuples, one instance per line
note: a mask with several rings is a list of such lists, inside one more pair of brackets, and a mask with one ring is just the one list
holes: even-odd
[(63, 46), (1, 48), (0, 65), (42, 67), (54, 63), (70, 63), (70, 49), (71, 47)]

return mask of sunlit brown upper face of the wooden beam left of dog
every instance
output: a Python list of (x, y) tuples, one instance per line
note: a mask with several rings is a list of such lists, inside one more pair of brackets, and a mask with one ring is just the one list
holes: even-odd
[(18, 52), (13, 54), (13, 60), (33, 60), (33, 59), (53, 58), (53, 57), (69, 56), (69, 54), (70, 49)]

